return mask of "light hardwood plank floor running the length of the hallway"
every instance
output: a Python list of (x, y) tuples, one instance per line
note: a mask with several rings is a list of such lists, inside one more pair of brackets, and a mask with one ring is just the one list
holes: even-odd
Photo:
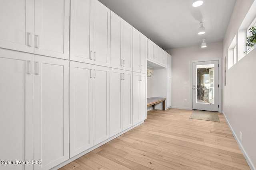
[(60, 170), (250, 170), (221, 113), (220, 123), (191, 114), (148, 111), (144, 123)]

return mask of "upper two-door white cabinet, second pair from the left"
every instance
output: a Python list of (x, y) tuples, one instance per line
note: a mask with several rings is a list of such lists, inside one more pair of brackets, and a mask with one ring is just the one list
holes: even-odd
[(98, 0), (72, 0), (70, 60), (110, 66), (110, 10)]

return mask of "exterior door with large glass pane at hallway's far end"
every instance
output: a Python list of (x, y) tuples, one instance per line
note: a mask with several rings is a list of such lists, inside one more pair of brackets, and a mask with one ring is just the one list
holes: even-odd
[(219, 110), (219, 61), (193, 62), (193, 109)]

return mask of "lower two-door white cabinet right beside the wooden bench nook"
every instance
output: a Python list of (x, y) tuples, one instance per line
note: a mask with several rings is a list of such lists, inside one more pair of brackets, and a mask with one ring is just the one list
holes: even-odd
[(146, 82), (147, 75), (137, 72), (133, 72), (133, 88), (132, 88), (132, 100), (133, 100), (133, 111), (132, 111), (132, 125), (136, 125), (147, 118), (147, 88)]

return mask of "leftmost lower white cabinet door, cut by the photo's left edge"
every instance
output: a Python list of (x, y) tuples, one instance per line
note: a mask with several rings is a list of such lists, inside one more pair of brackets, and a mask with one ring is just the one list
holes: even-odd
[[(0, 160), (34, 160), (34, 55), (0, 49)], [(2, 170), (33, 165), (0, 164)]]

